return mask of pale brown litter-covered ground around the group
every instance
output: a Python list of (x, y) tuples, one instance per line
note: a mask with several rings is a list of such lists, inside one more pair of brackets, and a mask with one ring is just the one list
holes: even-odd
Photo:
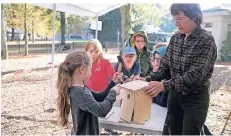
[[(60, 58), (63, 56), (61, 55)], [(27, 59), (30, 59), (30, 63), (28, 63), (29, 60), (23, 59), (16, 59), (15, 63), (2, 61), (8, 64), (7, 67), (5, 65), (2, 68), (13, 69), (14, 65), (20, 62), (21, 64), (18, 65), (20, 68), (33, 68), (40, 65), (35, 62), (35, 58)], [(43, 60), (43, 57), (36, 57), (36, 61), (47, 62)], [(55, 79), (56, 76), (57, 68), (55, 68)], [(50, 79), (50, 69), (8, 74), (1, 77), (2, 135), (65, 135), (70, 133), (70, 129), (62, 128), (57, 124), (56, 110), (52, 113), (46, 111), (50, 108)], [(206, 124), (213, 134), (220, 135), (231, 111), (231, 66), (216, 67), (211, 82), (211, 100)], [(52, 96), (52, 107), (56, 109), (56, 91)], [(231, 135), (231, 119), (226, 124), (222, 134)], [(131, 134), (117, 132), (121, 135)]]

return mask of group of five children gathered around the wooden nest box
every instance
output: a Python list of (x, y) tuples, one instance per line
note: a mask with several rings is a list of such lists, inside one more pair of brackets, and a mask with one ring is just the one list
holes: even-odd
[[(129, 45), (120, 52), (114, 69), (104, 58), (101, 43), (92, 39), (84, 51), (69, 53), (58, 70), (58, 113), (62, 126), (68, 124), (71, 111), (72, 135), (98, 135), (98, 117), (105, 117), (119, 94), (118, 83), (146, 77), (157, 72), (166, 46), (151, 52), (147, 49), (147, 35), (138, 31)], [(153, 98), (160, 106), (167, 106), (168, 91)]]

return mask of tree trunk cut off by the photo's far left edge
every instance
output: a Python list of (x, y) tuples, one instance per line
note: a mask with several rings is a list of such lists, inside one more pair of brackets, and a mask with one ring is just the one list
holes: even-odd
[(1, 4), (1, 56), (2, 59), (8, 59), (8, 48), (6, 43), (6, 20), (5, 20), (5, 9), (4, 4)]

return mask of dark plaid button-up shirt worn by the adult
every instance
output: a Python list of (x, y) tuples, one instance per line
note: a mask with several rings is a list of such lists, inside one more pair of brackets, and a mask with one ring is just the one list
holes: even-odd
[(184, 94), (208, 90), (216, 58), (213, 36), (198, 26), (187, 39), (180, 33), (172, 36), (159, 71), (146, 80), (162, 80), (170, 72), (171, 79), (164, 81), (165, 89)]

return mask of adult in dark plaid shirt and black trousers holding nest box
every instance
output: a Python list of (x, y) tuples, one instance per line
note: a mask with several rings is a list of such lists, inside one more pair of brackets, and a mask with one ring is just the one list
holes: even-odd
[[(171, 14), (179, 32), (170, 40), (158, 72), (145, 91), (152, 97), (169, 90), (168, 121), (171, 135), (211, 134), (204, 125), (209, 107), (210, 78), (217, 58), (212, 35), (202, 29), (199, 4), (172, 4)], [(164, 79), (170, 72), (171, 79)]]

